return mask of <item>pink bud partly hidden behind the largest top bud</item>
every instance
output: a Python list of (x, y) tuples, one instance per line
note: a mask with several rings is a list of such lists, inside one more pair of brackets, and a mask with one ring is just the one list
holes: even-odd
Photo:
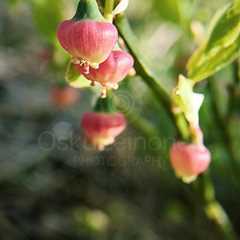
[[(90, 68), (89, 74), (85, 77), (94, 82), (100, 83), (104, 88), (117, 89), (118, 83), (122, 81), (133, 67), (132, 56), (124, 51), (112, 51), (107, 60), (99, 65), (98, 69)], [(76, 66), (82, 74), (83, 69)]]

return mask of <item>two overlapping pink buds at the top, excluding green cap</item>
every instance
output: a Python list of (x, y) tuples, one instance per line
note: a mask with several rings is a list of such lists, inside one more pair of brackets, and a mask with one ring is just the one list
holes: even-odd
[(61, 46), (71, 55), (75, 69), (92, 85), (99, 83), (102, 97), (107, 89), (117, 89), (133, 67), (132, 56), (117, 49), (116, 27), (105, 20), (71, 19), (57, 30)]

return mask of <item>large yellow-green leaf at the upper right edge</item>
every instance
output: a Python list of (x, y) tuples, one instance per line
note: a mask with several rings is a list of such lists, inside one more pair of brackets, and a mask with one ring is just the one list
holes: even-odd
[(188, 62), (188, 76), (201, 81), (239, 56), (240, 4), (227, 4), (212, 19), (206, 41)]

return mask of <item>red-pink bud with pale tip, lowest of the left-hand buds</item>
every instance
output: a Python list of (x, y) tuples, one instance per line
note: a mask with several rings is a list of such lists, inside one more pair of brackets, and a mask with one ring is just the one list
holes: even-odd
[(100, 151), (113, 144), (126, 125), (126, 119), (122, 113), (88, 112), (83, 115), (81, 122), (88, 142)]

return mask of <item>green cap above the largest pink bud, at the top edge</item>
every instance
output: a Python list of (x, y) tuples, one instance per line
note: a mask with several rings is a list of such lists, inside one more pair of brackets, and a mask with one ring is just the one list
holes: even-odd
[(73, 20), (80, 21), (80, 20), (96, 20), (96, 21), (103, 21), (104, 18), (98, 8), (98, 4), (96, 0), (80, 0), (77, 12), (73, 17)]

